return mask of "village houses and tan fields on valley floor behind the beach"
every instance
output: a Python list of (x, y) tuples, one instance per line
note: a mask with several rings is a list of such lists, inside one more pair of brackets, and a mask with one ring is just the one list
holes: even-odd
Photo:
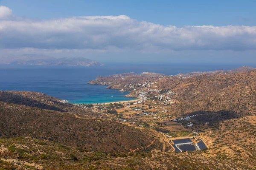
[(134, 88), (132, 93), (128, 94), (138, 98), (134, 101), (75, 105), (128, 126), (156, 130), (169, 140), (177, 137), (196, 137), (199, 131), (192, 129), (193, 123), (190, 120), (198, 115), (181, 117), (170, 114), (172, 106), (179, 102), (173, 99), (176, 93), (150, 88), (155, 83), (138, 84), (136, 88), (126, 84), (126, 89)]

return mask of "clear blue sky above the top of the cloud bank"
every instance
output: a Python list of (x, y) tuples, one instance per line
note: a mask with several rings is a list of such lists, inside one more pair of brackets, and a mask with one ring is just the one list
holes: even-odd
[(2, 0), (14, 14), (51, 19), (127, 15), (174, 26), (256, 25), (256, 0)]

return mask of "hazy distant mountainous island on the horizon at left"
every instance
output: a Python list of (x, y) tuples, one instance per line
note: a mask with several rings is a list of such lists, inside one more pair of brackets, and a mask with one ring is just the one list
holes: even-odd
[(71, 65), (71, 66), (102, 66), (103, 64), (91, 59), (77, 58), (54, 58), (49, 56), (7, 56), (0, 58), (0, 64), (23, 64), (23, 65)]

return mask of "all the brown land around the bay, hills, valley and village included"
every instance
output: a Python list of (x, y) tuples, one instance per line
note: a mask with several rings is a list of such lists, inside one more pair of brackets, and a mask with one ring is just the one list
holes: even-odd
[(89, 83), (138, 99), (72, 104), (38, 92), (0, 91), (0, 168), (256, 166), (256, 70), (111, 75)]

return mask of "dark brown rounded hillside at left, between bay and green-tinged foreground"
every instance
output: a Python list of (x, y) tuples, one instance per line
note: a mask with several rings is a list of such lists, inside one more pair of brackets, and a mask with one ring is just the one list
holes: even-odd
[[(6, 93), (9, 97), (4, 100), (3, 96)], [(47, 95), (40, 93), (38, 96), (32, 95), (31, 98), (40, 98), (43, 101), (39, 105), (35, 100), (30, 101), (30, 98), (26, 97), (35, 92), (25, 93), (22, 99), (17, 98), (17, 94), (20, 93), (24, 94), (24, 92), (12, 91), (0, 94), (3, 101), (0, 102), (0, 138), (30, 136), (105, 152), (129, 152), (137, 147), (146, 146), (154, 140), (134, 127), (88, 116), (90, 111), (87, 114), (83, 108), (58, 102), (52, 103), (56, 98), (49, 97), (52, 98), (50, 101)], [(14, 102), (17, 99), (20, 102)], [(52, 107), (44, 103), (49, 103)], [(65, 111), (66, 107), (68, 111)], [(69, 112), (70, 110), (76, 112)], [(157, 141), (155, 144), (153, 148), (160, 147)]]

